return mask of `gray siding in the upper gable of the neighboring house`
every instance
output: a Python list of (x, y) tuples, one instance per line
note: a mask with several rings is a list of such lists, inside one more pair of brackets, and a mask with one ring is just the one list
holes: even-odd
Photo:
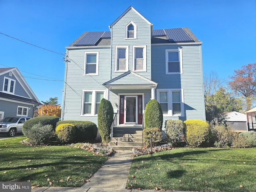
[(30, 96), (26, 93), (24, 88), (20, 85), (20, 82), (17, 80), (17, 78), (14, 76), (14, 74), (12, 74), (12, 76), (9, 76), (9, 73), (6, 73), (6, 74), (3, 74), (0, 76), (0, 91), (3, 90), (4, 77), (9, 78), (11, 80), (15, 80), (15, 89), (14, 89), (15, 95), (30, 98)]

